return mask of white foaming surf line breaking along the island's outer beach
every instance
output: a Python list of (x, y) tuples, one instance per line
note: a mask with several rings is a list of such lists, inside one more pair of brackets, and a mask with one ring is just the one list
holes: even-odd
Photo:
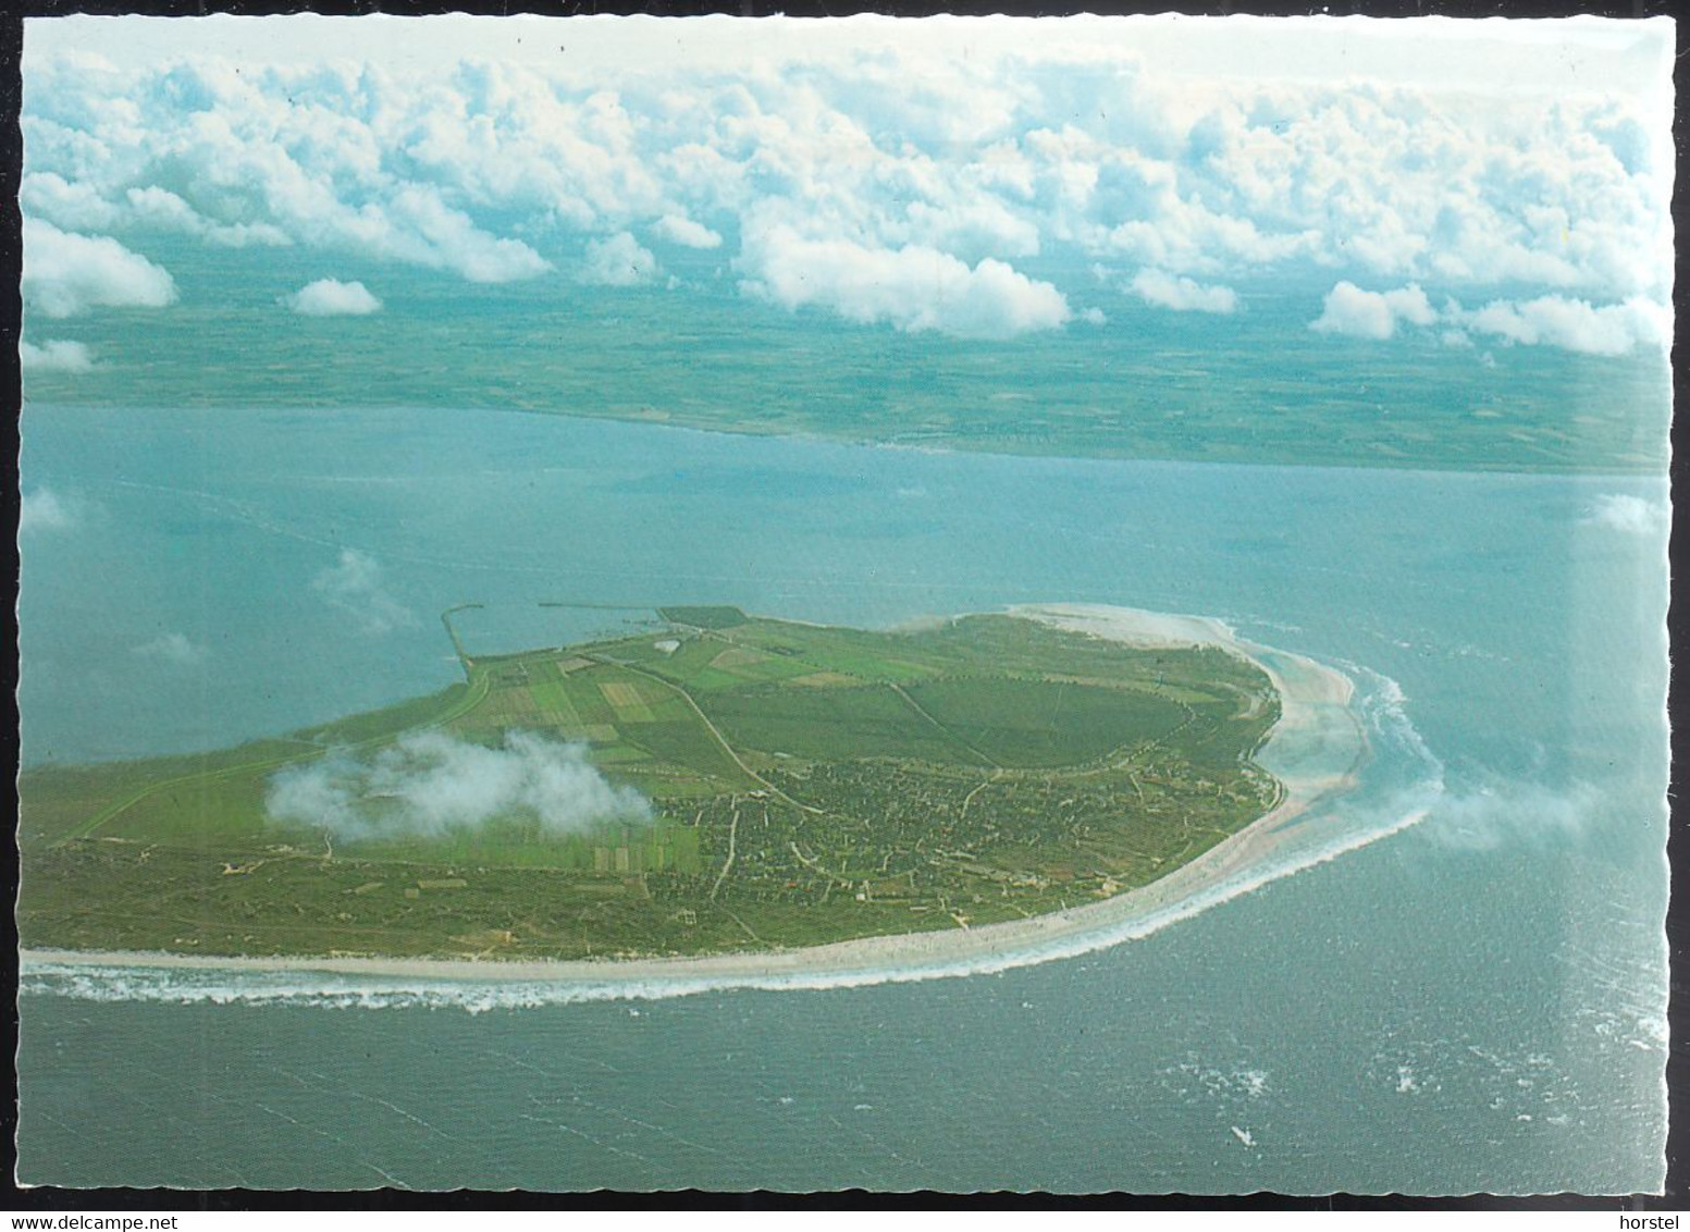
[(1352, 700), (1364, 725), (1371, 759), (1355, 786), (1322, 801), (1296, 818), (1296, 833), (1274, 847), (1259, 865), (1240, 869), (1181, 899), (1124, 921), (1066, 933), (987, 955), (913, 962), (882, 967), (837, 967), (791, 973), (678, 973), (674, 977), (603, 980), (461, 980), (341, 975), (309, 970), (254, 970), (140, 967), (113, 963), (54, 963), (27, 960), (20, 973), (24, 995), (57, 995), (79, 1000), (130, 1000), (171, 1004), (297, 1004), (323, 1009), (453, 1009), (472, 1014), (537, 1009), (603, 1000), (662, 1000), (701, 992), (754, 989), (771, 992), (853, 989), (877, 984), (994, 975), (1017, 967), (1075, 958), (1137, 941), (1224, 902), (1340, 855), (1396, 835), (1421, 821), (1443, 798), (1443, 762), (1426, 747), (1408, 715), (1408, 698), (1389, 676), (1344, 664), (1357, 693)]

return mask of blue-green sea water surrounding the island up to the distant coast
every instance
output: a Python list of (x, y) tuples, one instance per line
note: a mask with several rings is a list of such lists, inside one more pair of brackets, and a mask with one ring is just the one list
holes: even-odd
[(470, 602), (483, 651), (642, 615), (541, 603), (1218, 615), (1349, 671), (1376, 754), (1352, 850), (999, 972), (598, 999), (27, 975), (24, 1181), (1661, 1183), (1661, 482), (32, 406), (24, 492), (25, 762), (225, 745), (441, 688), (436, 617)]

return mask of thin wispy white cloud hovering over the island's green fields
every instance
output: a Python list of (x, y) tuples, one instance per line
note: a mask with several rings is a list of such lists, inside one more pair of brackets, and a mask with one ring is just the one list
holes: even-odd
[(581, 745), (532, 732), (507, 732), (497, 749), (417, 732), (367, 762), (289, 766), (270, 779), (265, 810), (340, 838), (439, 837), (500, 820), (559, 837), (651, 820), (646, 798), (608, 782)]

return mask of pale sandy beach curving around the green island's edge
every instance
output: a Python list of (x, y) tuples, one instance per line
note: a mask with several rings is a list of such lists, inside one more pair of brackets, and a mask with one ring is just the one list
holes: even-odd
[(1073, 953), (1083, 938), (1120, 940), (1151, 931), (1158, 919), (1200, 909), (1215, 891), (1247, 877), (1298, 833), (1298, 818), (1318, 799), (1345, 791), (1367, 757), (1350, 700), (1354, 683), (1298, 654), (1237, 637), (1220, 620), (1104, 605), (1026, 605), (1011, 615), (1129, 646), (1217, 646), (1256, 662), (1279, 693), (1279, 722), (1256, 760), (1284, 794), (1269, 813), (1197, 860), (1149, 886), (1033, 919), (938, 933), (837, 941), (799, 950), (639, 958), (613, 962), (512, 962), (439, 958), (220, 957), (177, 953), (25, 950), (24, 972), (61, 967), (176, 968), (208, 972), (321, 972), (336, 977), (426, 982), (522, 982), (592, 985), (737, 985), (804, 982), (869, 972), (943, 973), (989, 970)]

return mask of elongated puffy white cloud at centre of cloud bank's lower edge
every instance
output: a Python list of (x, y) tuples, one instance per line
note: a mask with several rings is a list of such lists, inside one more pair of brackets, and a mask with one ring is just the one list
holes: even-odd
[(968, 267), (950, 253), (908, 245), (865, 248), (850, 240), (806, 240), (788, 226), (747, 237), (744, 284), (784, 308), (818, 304), (864, 324), (906, 333), (1009, 338), (1055, 330), (1071, 313), (1049, 282), (990, 257)]

